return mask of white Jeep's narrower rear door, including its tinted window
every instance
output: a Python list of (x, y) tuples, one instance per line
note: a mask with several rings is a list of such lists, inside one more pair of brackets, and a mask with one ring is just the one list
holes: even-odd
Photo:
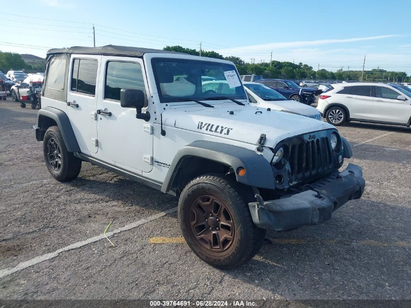
[(67, 89), (67, 114), (81, 151), (96, 153), (97, 91), (101, 56), (72, 55)]

